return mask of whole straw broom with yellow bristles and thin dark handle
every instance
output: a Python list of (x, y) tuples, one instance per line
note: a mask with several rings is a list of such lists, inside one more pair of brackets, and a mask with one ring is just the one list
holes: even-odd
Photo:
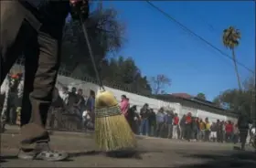
[(95, 98), (95, 140), (103, 152), (130, 151), (136, 147), (136, 139), (133, 131), (123, 116), (118, 101), (111, 91), (104, 89), (95, 60), (92, 54), (91, 44), (84, 25), (82, 16), (80, 24), (89, 49), (92, 66), (100, 90)]

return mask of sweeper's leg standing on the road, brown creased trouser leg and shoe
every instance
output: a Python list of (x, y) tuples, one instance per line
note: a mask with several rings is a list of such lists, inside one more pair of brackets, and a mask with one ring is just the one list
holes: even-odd
[[(53, 28), (57, 29), (57, 27)], [(61, 27), (58, 28), (60, 32), (59, 36), (52, 35), (51, 32), (45, 31), (44, 27), (41, 29), (42, 32), (38, 34), (37, 45), (39, 47), (39, 56), (37, 61), (37, 70), (36, 73), (33, 73), (35, 74), (34, 78), (33, 75), (31, 75), (31, 79), (29, 80), (30, 82), (33, 82), (33, 89), (29, 94), (29, 100), (31, 102), (31, 116), (29, 122), (26, 123), (23, 121), (23, 126), (21, 127), (22, 141), (20, 142), (20, 145), (22, 151), (27, 153), (32, 152), (31, 157), (35, 157), (35, 153), (33, 152), (36, 152), (35, 149), (37, 149), (39, 153), (44, 153), (43, 155), (37, 156), (45, 160), (62, 160), (67, 158), (67, 154), (65, 153), (45, 154), (48, 150), (46, 147), (48, 147), (49, 142), (48, 131), (45, 130), (45, 125), (48, 116), (48, 108), (51, 104), (52, 93), (59, 70)], [(31, 86), (31, 83), (29, 83), (29, 85)], [(23, 159), (25, 159), (25, 157), (30, 159), (27, 155), (20, 155), (20, 157)]]

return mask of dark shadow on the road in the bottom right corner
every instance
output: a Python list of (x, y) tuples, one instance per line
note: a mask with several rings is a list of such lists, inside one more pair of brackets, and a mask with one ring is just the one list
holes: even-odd
[(184, 164), (177, 166), (178, 168), (254, 168), (256, 167), (255, 152), (219, 152), (219, 153), (179, 153), (183, 157), (202, 160), (202, 163)]

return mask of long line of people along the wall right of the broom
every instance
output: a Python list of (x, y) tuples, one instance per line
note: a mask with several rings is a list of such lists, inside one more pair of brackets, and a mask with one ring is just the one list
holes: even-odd
[(243, 115), (236, 123), (210, 122), (208, 118), (192, 116), (191, 112), (179, 117), (175, 110), (165, 110), (164, 107), (155, 112), (147, 103), (137, 112), (136, 106), (130, 108), (125, 95), (122, 96), (121, 109), (135, 134), (188, 142), (242, 142), (242, 148), (251, 123), (250, 118)]

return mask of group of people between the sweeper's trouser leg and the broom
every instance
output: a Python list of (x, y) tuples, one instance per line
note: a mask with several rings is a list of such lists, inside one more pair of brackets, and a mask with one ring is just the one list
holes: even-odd
[(77, 120), (77, 130), (85, 131), (93, 129), (94, 124), (94, 101), (95, 92), (90, 90), (90, 94), (84, 94), (82, 89), (75, 87), (62, 87), (55, 89), (54, 100), (48, 112), (48, 127), (53, 128), (54, 121), (59, 113), (75, 115)]

